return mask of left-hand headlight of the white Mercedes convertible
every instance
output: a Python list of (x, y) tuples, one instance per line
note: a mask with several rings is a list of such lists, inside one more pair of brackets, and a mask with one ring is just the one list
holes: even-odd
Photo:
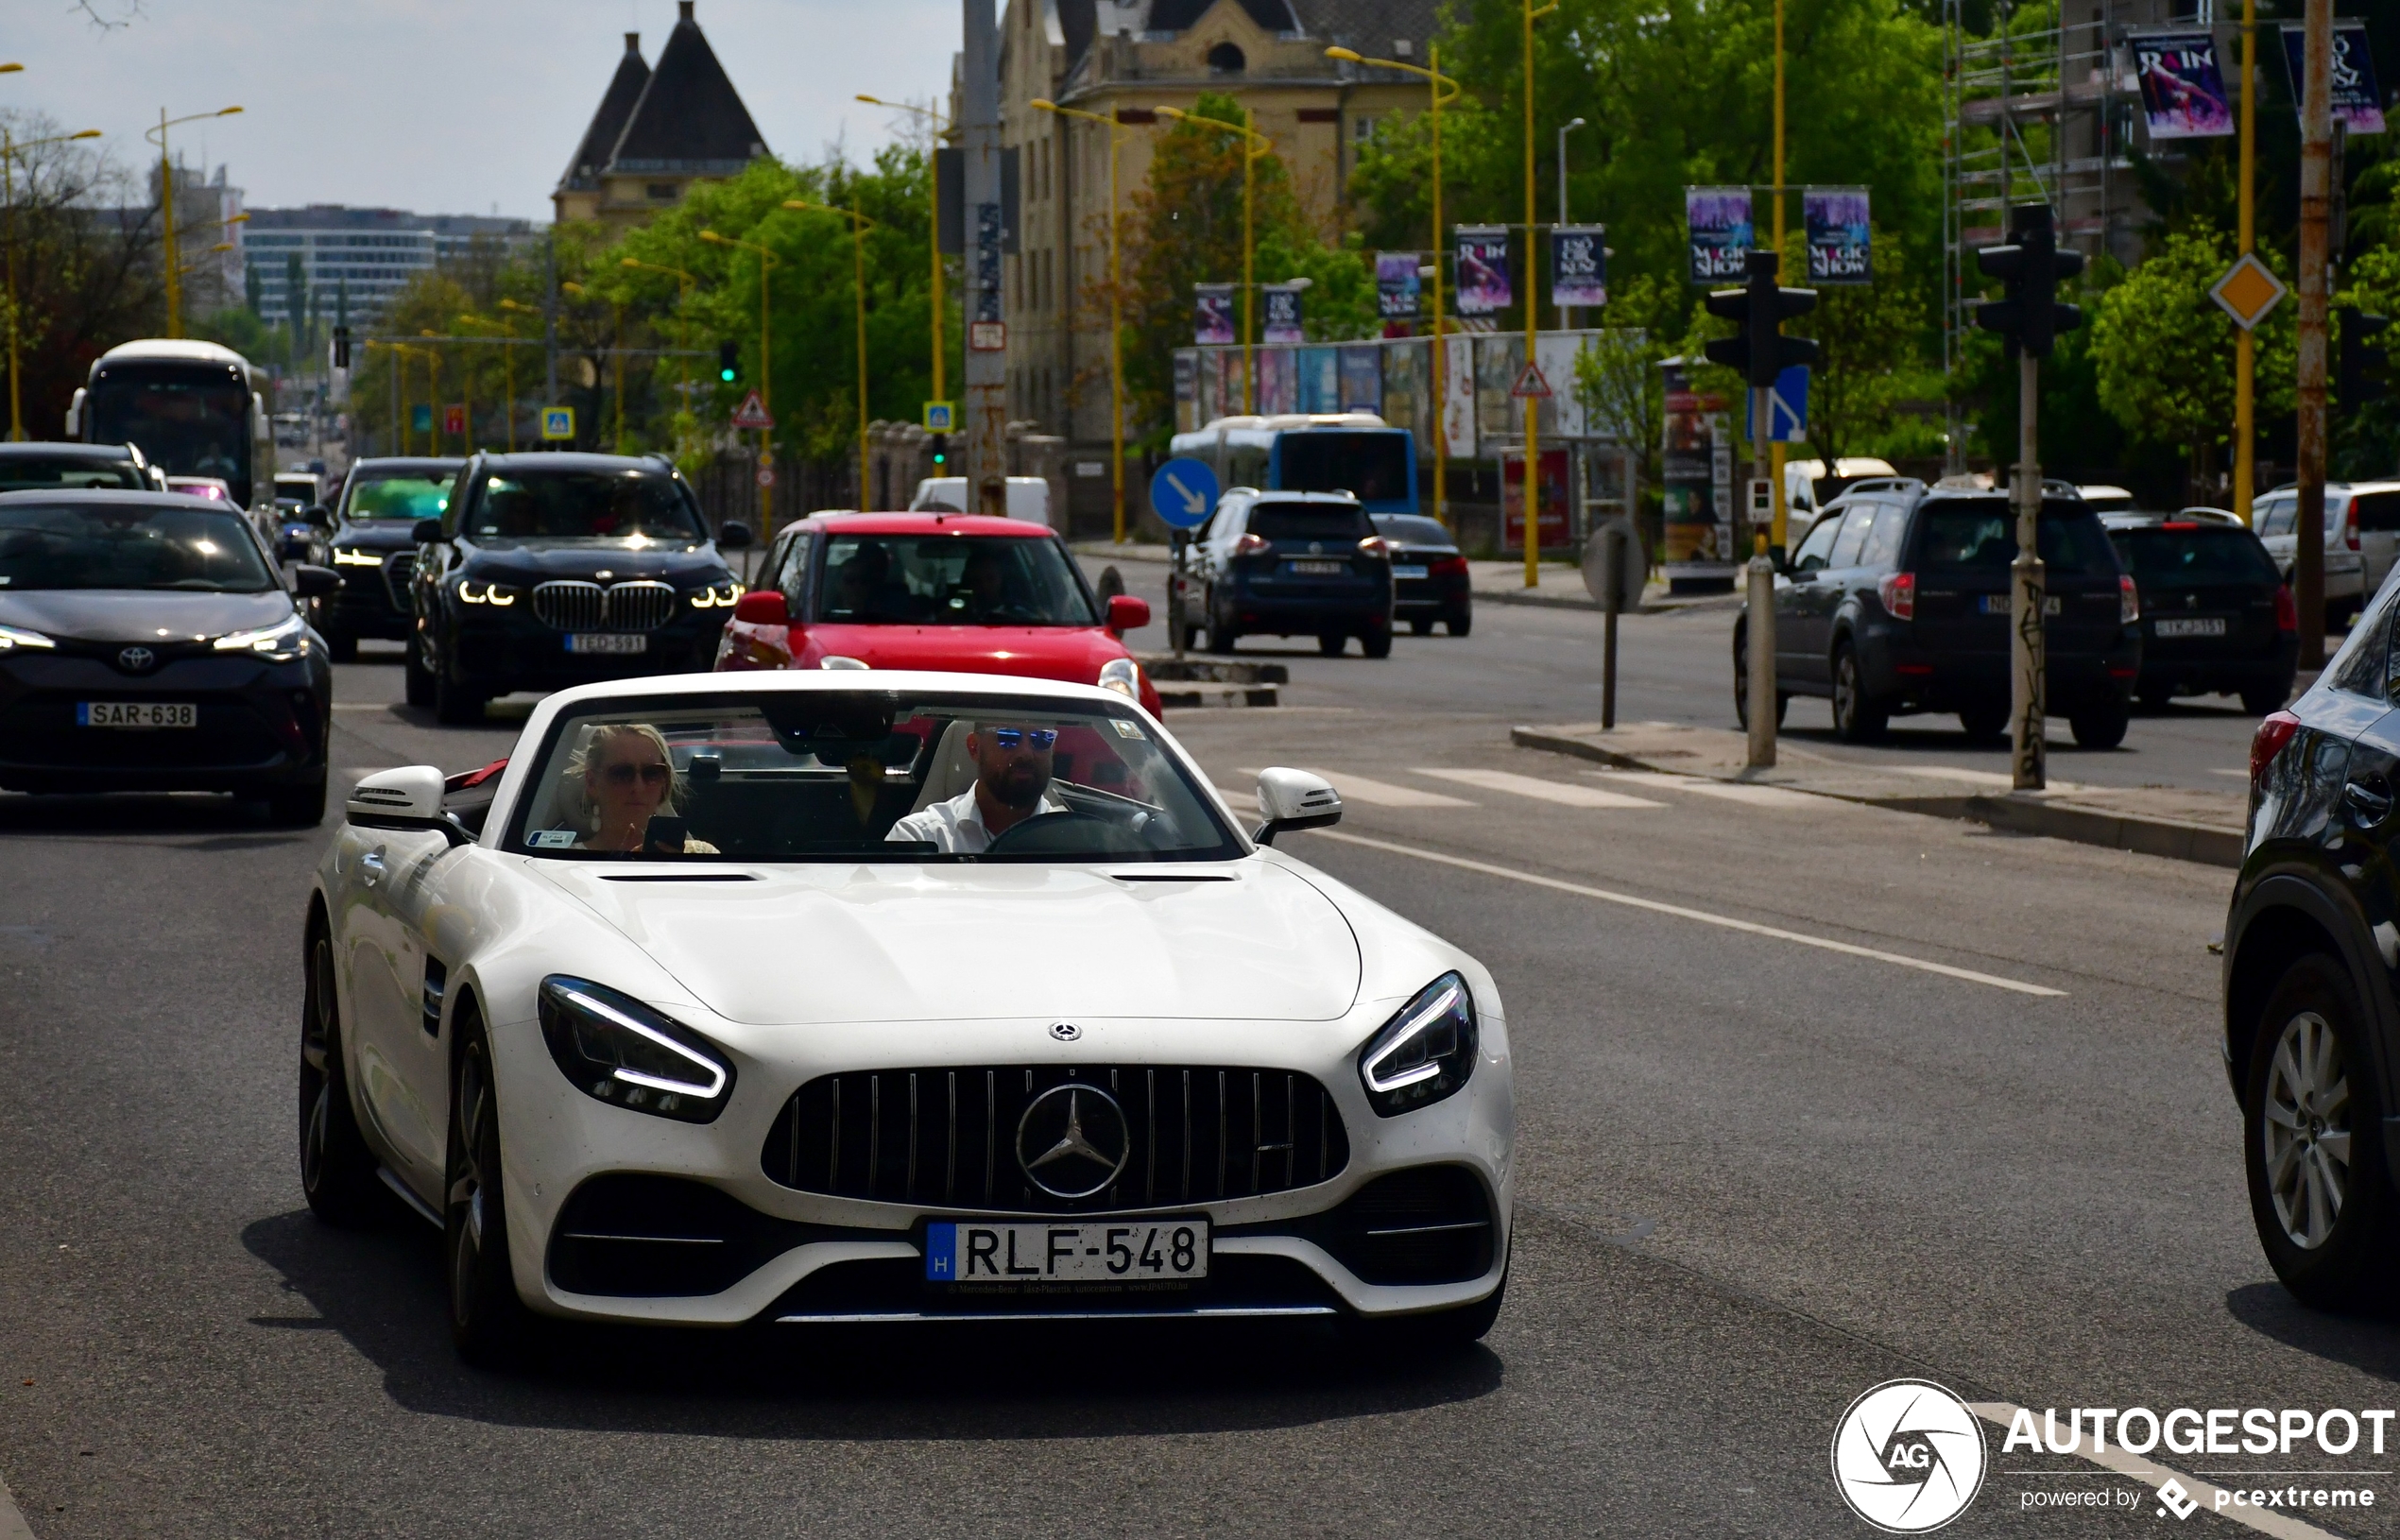
[(696, 1031), (590, 979), (552, 974), (540, 991), (550, 1058), (593, 1101), (677, 1123), (715, 1123), (734, 1067)]

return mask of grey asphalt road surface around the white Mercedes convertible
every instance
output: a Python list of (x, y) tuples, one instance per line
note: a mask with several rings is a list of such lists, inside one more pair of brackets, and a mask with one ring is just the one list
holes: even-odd
[[(1507, 998), (1510, 1300), (1433, 1362), (1313, 1331), (883, 1329), (571, 1331), (533, 1372), (461, 1370), (432, 1231), (334, 1233), (298, 1195), (326, 832), (0, 799), (0, 1478), (41, 1540), (1865, 1535), (1826, 1451), (1891, 1377), (2033, 1408), (2390, 1406), (2400, 1331), (2294, 1307), (2249, 1228), (2203, 950), (2222, 871), (1507, 748), (1495, 722), (1562, 688), (1579, 619), (1486, 607), (1447, 652), (1296, 660), (1289, 708), (1171, 720), (1229, 789), (1332, 772), (1344, 825), (1291, 849)], [(1642, 621), (1642, 657), (1718, 626)], [(1678, 679), (1644, 674), (1637, 710), (1670, 717)], [(514, 736), (389, 705), (391, 662), (336, 688), (350, 772)], [(2098, 1466), (1990, 1449), (1951, 1533), (2184, 1528)], [(2378, 1506), (2309, 1518), (2383, 1535), (2395, 1461), (2177, 1468), (2347, 1470)], [(2083, 1490), (2138, 1502), (2026, 1506)]]

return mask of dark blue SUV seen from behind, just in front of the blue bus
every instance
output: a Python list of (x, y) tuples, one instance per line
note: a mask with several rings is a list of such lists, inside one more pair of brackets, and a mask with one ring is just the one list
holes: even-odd
[(1183, 547), (1169, 602), (1188, 633), (1207, 631), (1210, 652), (1243, 636), (1315, 636), (1334, 657), (1356, 636), (1368, 657), (1392, 655), (1390, 542), (1346, 492), (1229, 489)]

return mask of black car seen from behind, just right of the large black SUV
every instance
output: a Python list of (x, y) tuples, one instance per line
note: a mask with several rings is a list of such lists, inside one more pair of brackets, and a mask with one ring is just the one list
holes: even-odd
[(2100, 523), (2141, 590), (2134, 693), (2143, 705), (2242, 696), (2242, 710), (2263, 717), (2292, 698), (2299, 607), (2256, 535), (2170, 513), (2105, 513)]

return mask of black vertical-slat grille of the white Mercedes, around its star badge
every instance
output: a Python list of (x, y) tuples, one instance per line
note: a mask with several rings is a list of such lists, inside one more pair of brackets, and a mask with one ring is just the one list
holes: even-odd
[[(1126, 1120), (1126, 1161), (1080, 1199), (1037, 1187), (1018, 1127), (1061, 1084), (1106, 1091)], [(1082, 1214), (1260, 1197), (1349, 1166), (1332, 1096), (1294, 1070), (1010, 1065), (869, 1070), (799, 1087), (768, 1130), (778, 1185), (828, 1197), (960, 1211)]]

